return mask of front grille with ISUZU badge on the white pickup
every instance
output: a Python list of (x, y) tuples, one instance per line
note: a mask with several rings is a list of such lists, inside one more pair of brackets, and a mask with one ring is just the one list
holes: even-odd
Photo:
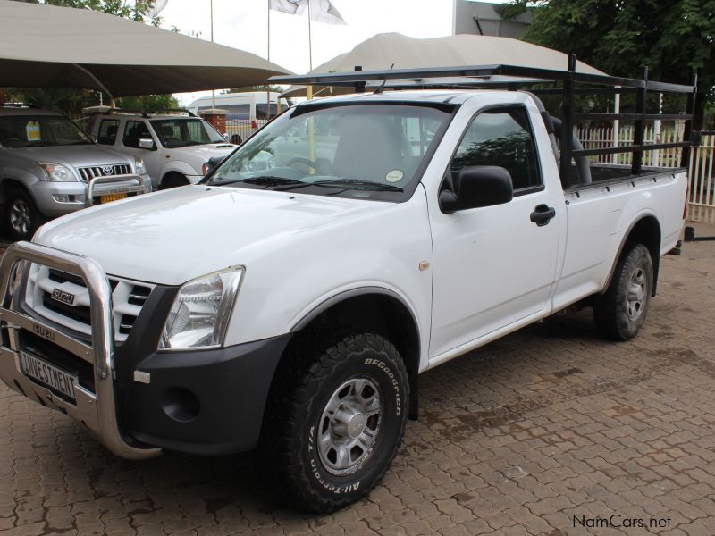
[[(147, 283), (116, 278), (109, 278), (109, 283), (112, 288), (114, 340), (121, 343), (129, 337), (154, 287)], [(55, 289), (71, 295), (71, 299), (61, 301), (53, 297)], [(32, 264), (25, 292), (25, 306), (31, 313), (67, 328), (72, 334), (80, 334), (87, 340), (91, 337), (89, 291), (84, 281), (76, 275)]]

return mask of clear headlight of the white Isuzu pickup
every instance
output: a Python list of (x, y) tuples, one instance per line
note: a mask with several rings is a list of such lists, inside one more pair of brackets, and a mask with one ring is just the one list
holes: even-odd
[(221, 347), (243, 272), (242, 266), (228, 268), (181, 287), (166, 318), (158, 349)]

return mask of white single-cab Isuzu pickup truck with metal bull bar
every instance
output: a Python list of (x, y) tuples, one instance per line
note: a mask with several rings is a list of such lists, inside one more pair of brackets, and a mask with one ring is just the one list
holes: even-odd
[(686, 170), (579, 165), (565, 189), (540, 108), (310, 101), (198, 185), (46, 223), (0, 264), (0, 377), (118, 456), (258, 446), (294, 505), (348, 505), (391, 465), (418, 374), (569, 306), (612, 339), (644, 323)]

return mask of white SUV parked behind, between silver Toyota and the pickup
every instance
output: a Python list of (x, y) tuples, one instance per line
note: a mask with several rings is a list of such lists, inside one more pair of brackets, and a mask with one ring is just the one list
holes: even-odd
[(196, 184), (209, 158), (223, 158), (236, 147), (189, 112), (135, 113), (106, 106), (87, 111), (94, 112), (88, 130), (97, 143), (141, 158), (154, 189)]

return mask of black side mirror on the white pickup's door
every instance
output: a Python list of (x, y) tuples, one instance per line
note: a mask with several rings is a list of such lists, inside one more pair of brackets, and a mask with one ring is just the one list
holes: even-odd
[(457, 192), (442, 190), (440, 209), (450, 214), (467, 208), (503, 205), (514, 197), (511, 174), (502, 167), (475, 165), (463, 168), (457, 175)]

